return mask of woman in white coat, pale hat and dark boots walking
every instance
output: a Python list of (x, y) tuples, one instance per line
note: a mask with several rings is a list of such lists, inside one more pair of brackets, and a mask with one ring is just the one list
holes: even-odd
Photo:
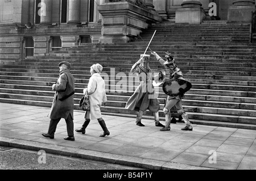
[(85, 122), (82, 125), (82, 128), (76, 129), (76, 132), (85, 134), (85, 128), (90, 123), (90, 119), (97, 119), (104, 131), (100, 137), (105, 137), (106, 135), (110, 134), (108, 128), (106, 127), (105, 121), (102, 119), (100, 109), (101, 104), (103, 103), (103, 105), (105, 105), (107, 102), (105, 82), (100, 75), (102, 69), (103, 68), (100, 64), (93, 64), (90, 67), (90, 74), (92, 77), (89, 79), (88, 88), (84, 89), (84, 94), (87, 93), (89, 95), (90, 111), (85, 112)]

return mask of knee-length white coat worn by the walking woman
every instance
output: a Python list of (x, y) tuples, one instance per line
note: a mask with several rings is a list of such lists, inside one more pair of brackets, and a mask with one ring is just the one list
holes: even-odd
[(101, 104), (107, 102), (105, 82), (99, 73), (94, 73), (89, 79), (88, 87), (84, 89), (84, 94), (88, 91), (90, 100), (90, 119), (101, 118)]

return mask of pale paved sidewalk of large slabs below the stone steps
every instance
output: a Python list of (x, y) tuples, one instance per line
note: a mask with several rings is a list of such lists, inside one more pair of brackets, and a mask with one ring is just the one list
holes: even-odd
[[(48, 131), (49, 108), (0, 103), (0, 146), (12, 146), (46, 153), (72, 155), (144, 169), (256, 169), (256, 131), (193, 125), (181, 131), (183, 123), (171, 124), (171, 131), (160, 132), (154, 120), (103, 115), (110, 136), (97, 120), (90, 121), (85, 134), (75, 132), (76, 141), (66, 141), (64, 119), (57, 126), (55, 139), (43, 137)], [(84, 112), (74, 112), (75, 129), (84, 123)], [(162, 122), (164, 124), (164, 122)]]

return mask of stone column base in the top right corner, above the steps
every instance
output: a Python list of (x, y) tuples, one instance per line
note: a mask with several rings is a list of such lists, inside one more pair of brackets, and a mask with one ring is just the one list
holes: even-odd
[(254, 0), (234, 1), (228, 10), (228, 22), (251, 23), (255, 10)]

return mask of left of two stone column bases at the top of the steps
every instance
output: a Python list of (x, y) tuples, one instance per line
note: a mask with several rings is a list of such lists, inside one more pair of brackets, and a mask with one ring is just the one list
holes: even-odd
[(184, 0), (181, 8), (176, 10), (175, 23), (200, 24), (205, 12), (199, 0)]

